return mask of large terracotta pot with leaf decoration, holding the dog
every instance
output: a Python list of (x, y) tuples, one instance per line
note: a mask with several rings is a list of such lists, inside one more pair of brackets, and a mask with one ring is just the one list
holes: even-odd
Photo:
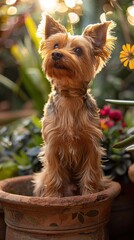
[(32, 176), (0, 183), (7, 224), (6, 240), (107, 240), (112, 200), (120, 185), (97, 194), (65, 198), (32, 196)]

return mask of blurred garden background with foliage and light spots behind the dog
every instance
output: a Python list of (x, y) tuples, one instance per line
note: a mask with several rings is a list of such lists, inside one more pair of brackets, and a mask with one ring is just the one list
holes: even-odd
[[(50, 92), (42, 73), (36, 36), (45, 11), (81, 34), (88, 24), (113, 20), (115, 49), (106, 67), (90, 84), (101, 109), (101, 127), (107, 148), (107, 174), (125, 176), (133, 163), (132, 150), (113, 150), (119, 140), (134, 134), (134, 1), (132, 0), (6, 0), (0, 1), (0, 174), (31, 173), (40, 166), (40, 117)], [(121, 54), (120, 54), (121, 52)], [(106, 99), (129, 100), (130, 105), (109, 105)], [(107, 105), (107, 106), (105, 106)], [(19, 122), (11, 121), (20, 119)], [(133, 139), (130, 141), (133, 143)], [(19, 166), (19, 167), (18, 167)], [(5, 168), (4, 168), (5, 167)], [(5, 171), (5, 170), (4, 170)], [(11, 172), (11, 171), (10, 171)], [(19, 172), (19, 173), (18, 173)], [(4, 173), (5, 174), (5, 173)]]

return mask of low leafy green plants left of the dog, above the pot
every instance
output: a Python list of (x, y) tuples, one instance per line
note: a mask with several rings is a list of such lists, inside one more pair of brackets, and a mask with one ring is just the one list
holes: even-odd
[(40, 120), (21, 119), (0, 128), (0, 179), (31, 174), (41, 168)]

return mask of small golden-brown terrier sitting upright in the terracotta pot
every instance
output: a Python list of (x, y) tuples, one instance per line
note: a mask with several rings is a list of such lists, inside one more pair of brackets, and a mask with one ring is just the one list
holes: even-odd
[(110, 57), (113, 22), (87, 26), (72, 36), (52, 17), (43, 16), (38, 32), (43, 71), (52, 92), (42, 119), (42, 172), (34, 176), (37, 196), (85, 195), (105, 187), (99, 111), (88, 84)]

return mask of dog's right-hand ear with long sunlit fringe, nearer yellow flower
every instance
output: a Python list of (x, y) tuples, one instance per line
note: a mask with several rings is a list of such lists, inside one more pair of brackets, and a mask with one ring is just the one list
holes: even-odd
[(96, 73), (98, 73), (111, 56), (116, 37), (112, 36), (111, 30), (115, 23), (107, 21), (87, 26), (82, 35), (93, 47), (93, 55), (96, 58)]

